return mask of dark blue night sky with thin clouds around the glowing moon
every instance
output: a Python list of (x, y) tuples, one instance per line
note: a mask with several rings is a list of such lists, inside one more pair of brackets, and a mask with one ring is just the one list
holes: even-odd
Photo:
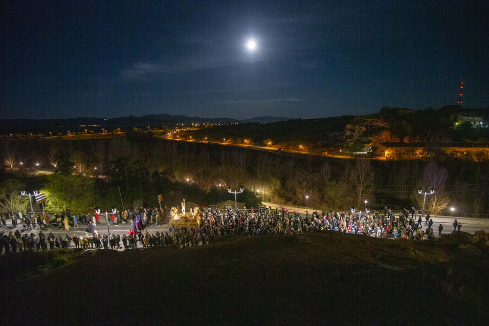
[(488, 1), (122, 2), (0, 1), (0, 118), (489, 106)]

